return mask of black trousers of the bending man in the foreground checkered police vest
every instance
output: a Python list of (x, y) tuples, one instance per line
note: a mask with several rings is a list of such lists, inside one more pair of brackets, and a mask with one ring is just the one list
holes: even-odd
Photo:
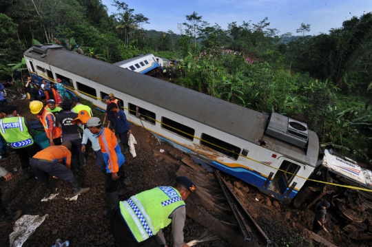
[[(113, 205), (114, 206), (114, 205)], [(119, 247), (159, 247), (160, 244), (155, 239), (155, 236), (146, 239), (145, 241), (141, 241), (138, 243), (136, 239), (134, 239), (130, 229), (128, 228), (127, 224), (125, 223), (123, 216), (116, 205), (115, 208), (110, 208), (107, 211), (107, 217), (110, 218), (110, 226), (112, 235), (114, 235), (116, 246)]]

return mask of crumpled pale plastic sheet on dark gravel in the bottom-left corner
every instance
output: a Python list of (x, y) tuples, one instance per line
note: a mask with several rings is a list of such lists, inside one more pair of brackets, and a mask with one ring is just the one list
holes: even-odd
[(10, 247), (21, 247), (47, 216), (48, 214), (43, 217), (39, 215), (23, 215), (20, 217), (13, 226), (13, 232), (9, 235)]

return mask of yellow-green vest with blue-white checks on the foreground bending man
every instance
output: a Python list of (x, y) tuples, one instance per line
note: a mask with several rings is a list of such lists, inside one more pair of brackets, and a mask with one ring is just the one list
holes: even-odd
[(171, 186), (158, 186), (120, 202), (120, 212), (136, 241), (145, 241), (172, 222), (173, 211), (185, 206)]

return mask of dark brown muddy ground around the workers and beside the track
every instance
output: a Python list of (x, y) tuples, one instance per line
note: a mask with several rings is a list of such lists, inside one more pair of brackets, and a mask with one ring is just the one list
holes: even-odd
[[(30, 114), (27, 100), (13, 103), (19, 107), (19, 114), (28, 118), (36, 117)], [(125, 155), (125, 171), (132, 179), (134, 193), (139, 193), (155, 186), (172, 184), (177, 164), (169, 164), (154, 158), (153, 151), (164, 149), (174, 150), (165, 143), (159, 143), (150, 133), (141, 127), (132, 125), (132, 132), (138, 142), (137, 157)], [(12, 155), (8, 160), (0, 161), (0, 166), (11, 171), (14, 167), (21, 170), (19, 158)], [(50, 202), (41, 202), (43, 191), (36, 179), (25, 181), (21, 171), (14, 174), (10, 182), (0, 180), (3, 191), (3, 203), (10, 211), (22, 209), (24, 214), (45, 215), (49, 217), (37, 228), (35, 233), (23, 246), (52, 246), (55, 239), (69, 240), (70, 246), (114, 246), (109, 222), (103, 215), (107, 207), (107, 198), (103, 186), (103, 175), (95, 166), (95, 160), (89, 156), (87, 167), (77, 174), (83, 186), (90, 186), (90, 191), (79, 195), (77, 201), (67, 201), (62, 197), (72, 197), (73, 193), (68, 183), (50, 178), (50, 184), (59, 192), (59, 197)], [(296, 209), (273, 200), (260, 193), (255, 187), (241, 182), (229, 175), (223, 175), (230, 188), (238, 196), (242, 204), (256, 219), (273, 244), (271, 246), (322, 246), (304, 237), (304, 229), (311, 229), (313, 208)], [(134, 194), (133, 193), (133, 194)], [(127, 197), (121, 197), (126, 200)], [(187, 202), (186, 202), (187, 204)], [(12, 224), (0, 228), (1, 246), (9, 246), (8, 236), (12, 232)], [(369, 223), (371, 224), (371, 223)], [(368, 225), (368, 222), (366, 223)], [(368, 226), (367, 226), (368, 227)], [(335, 246), (371, 246), (372, 237), (366, 229), (362, 234), (342, 230), (338, 224), (338, 212), (329, 208), (330, 233), (320, 232), (319, 235)], [(206, 229), (187, 217), (185, 224), (185, 241), (198, 237)], [(165, 230), (167, 241), (172, 243), (170, 226)], [(224, 239), (207, 242), (198, 246), (231, 246)]]

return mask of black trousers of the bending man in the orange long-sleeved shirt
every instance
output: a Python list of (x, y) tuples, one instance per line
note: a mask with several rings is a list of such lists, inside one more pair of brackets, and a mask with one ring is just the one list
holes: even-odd
[(48, 184), (49, 175), (54, 175), (63, 181), (75, 179), (72, 171), (59, 162), (48, 162), (32, 158), (30, 167), (41, 184)]

